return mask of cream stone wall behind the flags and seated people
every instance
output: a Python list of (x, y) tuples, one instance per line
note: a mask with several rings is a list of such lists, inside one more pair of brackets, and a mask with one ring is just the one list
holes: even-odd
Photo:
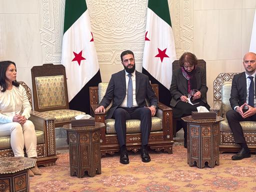
[[(17, 64), (31, 87), (30, 68), (60, 63), (65, 0), (0, 0), (0, 60)], [(119, 54), (135, 53), (141, 71), (147, 0), (86, 0), (103, 81), (122, 69)], [(207, 98), (220, 72), (243, 70), (256, 0), (168, 0), (177, 57), (195, 53), (207, 63)]]

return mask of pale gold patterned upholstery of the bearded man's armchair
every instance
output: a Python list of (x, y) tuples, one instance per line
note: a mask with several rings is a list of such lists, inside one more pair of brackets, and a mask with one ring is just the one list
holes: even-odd
[[(98, 84), (98, 100), (99, 102), (102, 100), (105, 95), (106, 88), (108, 86), (108, 82), (100, 82)], [(111, 107), (112, 102), (106, 107), (106, 111)], [(114, 119), (109, 118), (105, 120), (106, 124), (106, 133), (107, 134), (115, 134), (114, 129)], [(161, 110), (157, 110), (156, 115), (152, 117), (152, 127), (151, 131), (162, 130), (162, 112)], [(136, 133), (140, 132), (140, 120), (131, 119), (126, 120), (126, 132), (127, 133)]]

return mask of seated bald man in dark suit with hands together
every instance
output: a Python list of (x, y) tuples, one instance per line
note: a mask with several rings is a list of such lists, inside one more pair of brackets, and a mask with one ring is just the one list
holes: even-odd
[(250, 157), (250, 150), (244, 139), (240, 121), (256, 121), (255, 74), (256, 54), (247, 52), (243, 57), (245, 72), (234, 75), (230, 93), (230, 104), (233, 110), (226, 113), (235, 143), (241, 150), (232, 156), (232, 160)]

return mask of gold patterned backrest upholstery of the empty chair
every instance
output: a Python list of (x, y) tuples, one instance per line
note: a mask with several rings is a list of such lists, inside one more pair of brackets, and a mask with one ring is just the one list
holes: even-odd
[(64, 76), (35, 77), (39, 108), (65, 106)]

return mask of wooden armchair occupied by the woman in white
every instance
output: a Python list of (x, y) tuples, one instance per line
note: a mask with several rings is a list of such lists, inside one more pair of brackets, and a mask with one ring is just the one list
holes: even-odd
[[(22, 81), (19, 82), (26, 90), (28, 100), (32, 106), (31, 90)], [(36, 111), (31, 111), (29, 120), (35, 126), (37, 165), (53, 165), (57, 160), (55, 149), (54, 118), (40, 115)], [(10, 146), (10, 135), (0, 136), (0, 157), (14, 156)]]

